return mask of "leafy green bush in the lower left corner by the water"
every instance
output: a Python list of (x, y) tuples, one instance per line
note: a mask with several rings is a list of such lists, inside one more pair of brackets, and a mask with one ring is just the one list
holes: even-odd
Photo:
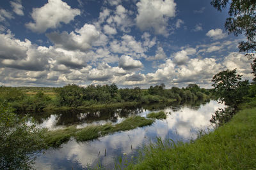
[(44, 129), (28, 125), (28, 120), (0, 104), (0, 169), (31, 169), (36, 153), (45, 148)]

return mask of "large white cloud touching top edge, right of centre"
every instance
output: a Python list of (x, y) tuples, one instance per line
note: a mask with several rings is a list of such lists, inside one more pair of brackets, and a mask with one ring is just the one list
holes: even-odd
[(136, 25), (141, 31), (154, 29), (156, 34), (167, 34), (168, 19), (175, 17), (176, 3), (173, 0), (141, 0), (136, 6), (138, 7)]

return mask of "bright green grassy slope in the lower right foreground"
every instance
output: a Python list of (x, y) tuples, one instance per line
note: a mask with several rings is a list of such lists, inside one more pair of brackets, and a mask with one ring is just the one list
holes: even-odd
[(161, 141), (145, 146), (127, 169), (256, 169), (256, 108), (191, 143)]

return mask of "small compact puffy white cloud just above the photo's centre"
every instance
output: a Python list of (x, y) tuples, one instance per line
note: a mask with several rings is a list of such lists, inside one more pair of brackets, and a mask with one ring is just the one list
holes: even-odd
[(134, 60), (128, 55), (122, 55), (119, 59), (118, 66), (125, 70), (140, 69), (143, 64), (140, 60)]

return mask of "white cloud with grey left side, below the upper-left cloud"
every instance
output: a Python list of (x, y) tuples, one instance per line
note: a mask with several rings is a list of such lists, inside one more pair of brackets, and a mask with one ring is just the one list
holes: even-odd
[[(56, 45), (56, 47), (64, 48), (66, 50), (80, 50), (86, 51), (92, 48), (93, 42), (100, 38), (100, 32), (91, 24), (84, 24), (81, 29), (72, 31), (70, 34), (63, 31), (51, 32), (46, 36)], [(106, 41), (106, 40), (105, 40)]]

